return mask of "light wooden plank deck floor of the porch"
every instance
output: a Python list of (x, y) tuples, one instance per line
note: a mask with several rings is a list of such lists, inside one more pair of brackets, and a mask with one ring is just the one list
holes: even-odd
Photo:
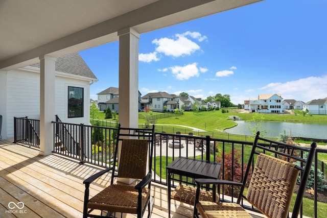
[[(82, 217), (83, 180), (101, 169), (55, 154), (38, 153), (35, 148), (0, 141), (0, 217)], [(97, 180), (90, 187), (90, 196), (109, 181), (108, 176)], [(166, 218), (167, 187), (152, 184), (152, 217)], [(172, 201), (171, 208), (171, 217), (192, 217), (193, 206)]]

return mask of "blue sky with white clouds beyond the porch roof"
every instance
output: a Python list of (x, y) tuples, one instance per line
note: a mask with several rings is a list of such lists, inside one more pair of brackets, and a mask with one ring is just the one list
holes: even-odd
[[(229, 94), (243, 104), (259, 94), (308, 102), (327, 97), (327, 0), (266, 0), (141, 34), (142, 95)], [(118, 87), (119, 43), (80, 54), (99, 82), (90, 98)]]

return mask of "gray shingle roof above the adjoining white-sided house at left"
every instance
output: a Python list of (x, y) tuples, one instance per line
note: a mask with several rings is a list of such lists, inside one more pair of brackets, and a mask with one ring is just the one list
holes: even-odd
[[(40, 68), (40, 63), (31, 64), (31, 66)], [(58, 57), (56, 71), (98, 80), (78, 53)]]

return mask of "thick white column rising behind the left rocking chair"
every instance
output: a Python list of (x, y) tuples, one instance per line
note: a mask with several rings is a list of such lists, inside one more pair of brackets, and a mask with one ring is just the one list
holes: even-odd
[(127, 28), (119, 35), (119, 123), (138, 126), (138, 39), (139, 34)]

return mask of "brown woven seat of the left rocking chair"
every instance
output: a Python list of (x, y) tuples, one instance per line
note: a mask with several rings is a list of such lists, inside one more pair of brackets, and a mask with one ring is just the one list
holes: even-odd
[[(112, 184), (92, 197), (87, 203), (87, 207), (91, 209), (136, 214), (137, 196), (138, 191), (134, 186)], [(142, 208), (145, 207), (149, 196), (149, 189), (144, 188), (142, 192)]]

